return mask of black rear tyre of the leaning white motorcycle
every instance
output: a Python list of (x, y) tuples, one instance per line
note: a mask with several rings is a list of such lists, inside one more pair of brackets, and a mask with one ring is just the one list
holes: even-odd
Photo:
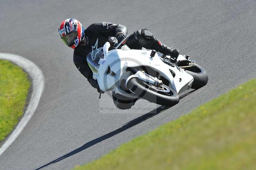
[(199, 89), (207, 84), (208, 75), (203, 67), (195, 64), (194, 67), (186, 69), (186, 72), (194, 77), (194, 81), (192, 83), (192, 89)]

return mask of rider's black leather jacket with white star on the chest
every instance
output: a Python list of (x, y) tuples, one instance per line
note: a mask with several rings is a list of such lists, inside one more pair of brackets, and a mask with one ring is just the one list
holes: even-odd
[(77, 46), (74, 50), (73, 61), (76, 68), (87, 78), (92, 87), (98, 89), (98, 82), (92, 78), (92, 70), (87, 64), (87, 55), (97, 48), (103, 47), (106, 42), (116, 43), (119, 33), (127, 34), (127, 27), (109, 22), (95, 22), (85, 29), (86, 46)]

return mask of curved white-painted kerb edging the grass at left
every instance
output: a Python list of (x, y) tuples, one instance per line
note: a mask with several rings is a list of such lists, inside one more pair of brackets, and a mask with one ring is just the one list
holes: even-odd
[(0, 53), (0, 59), (9, 60), (15, 63), (16, 65), (23, 68), (26, 72), (28, 72), (29, 76), (32, 78), (32, 94), (27, 110), (25, 111), (25, 114), (23, 115), (23, 118), (20, 120), (17, 127), (13, 130), (12, 134), (0, 148), (1, 155), (18, 137), (18, 135), (20, 135), (20, 132), (27, 125), (29, 119), (34, 114), (44, 89), (44, 75), (38, 66), (21, 56), (8, 53)]

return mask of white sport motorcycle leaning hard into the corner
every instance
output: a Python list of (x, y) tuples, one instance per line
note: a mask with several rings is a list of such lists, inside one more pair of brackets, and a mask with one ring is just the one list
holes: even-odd
[(102, 91), (172, 106), (179, 102), (180, 93), (208, 82), (205, 69), (188, 55), (172, 58), (160, 56), (155, 50), (131, 50), (121, 45), (124, 41), (113, 49), (107, 42), (87, 55), (93, 79)]

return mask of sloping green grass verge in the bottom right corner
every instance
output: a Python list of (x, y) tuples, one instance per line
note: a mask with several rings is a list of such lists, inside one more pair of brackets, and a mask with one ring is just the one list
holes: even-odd
[(252, 170), (255, 129), (256, 80), (251, 80), (76, 170)]

